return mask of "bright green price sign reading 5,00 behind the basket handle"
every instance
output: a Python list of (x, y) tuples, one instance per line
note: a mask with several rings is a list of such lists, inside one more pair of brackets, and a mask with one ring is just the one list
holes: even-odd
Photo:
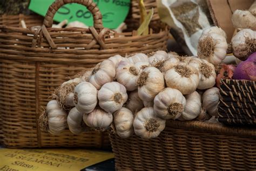
[[(29, 9), (45, 16), (53, 2), (54, 0), (31, 0)], [(130, 0), (93, 0), (93, 2), (97, 4), (102, 13), (104, 27), (109, 29), (116, 29), (124, 22), (130, 9)], [(57, 22), (62, 22), (64, 19), (68, 22), (79, 21), (93, 26), (92, 13), (85, 6), (77, 3), (63, 5), (53, 18)]]

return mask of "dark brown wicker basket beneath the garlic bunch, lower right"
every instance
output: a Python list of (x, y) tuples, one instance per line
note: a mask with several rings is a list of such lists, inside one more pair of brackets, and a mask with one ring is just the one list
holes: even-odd
[(167, 121), (156, 139), (111, 134), (116, 169), (255, 170), (256, 129)]

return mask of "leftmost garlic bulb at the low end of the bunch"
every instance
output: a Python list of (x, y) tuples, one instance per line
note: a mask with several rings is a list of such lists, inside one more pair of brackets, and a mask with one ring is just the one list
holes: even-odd
[(59, 134), (66, 128), (67, 114), (57, 100), (51, 100), (46, 106), (46, 114), (48, 117), (48, 132), (51, 134)]

